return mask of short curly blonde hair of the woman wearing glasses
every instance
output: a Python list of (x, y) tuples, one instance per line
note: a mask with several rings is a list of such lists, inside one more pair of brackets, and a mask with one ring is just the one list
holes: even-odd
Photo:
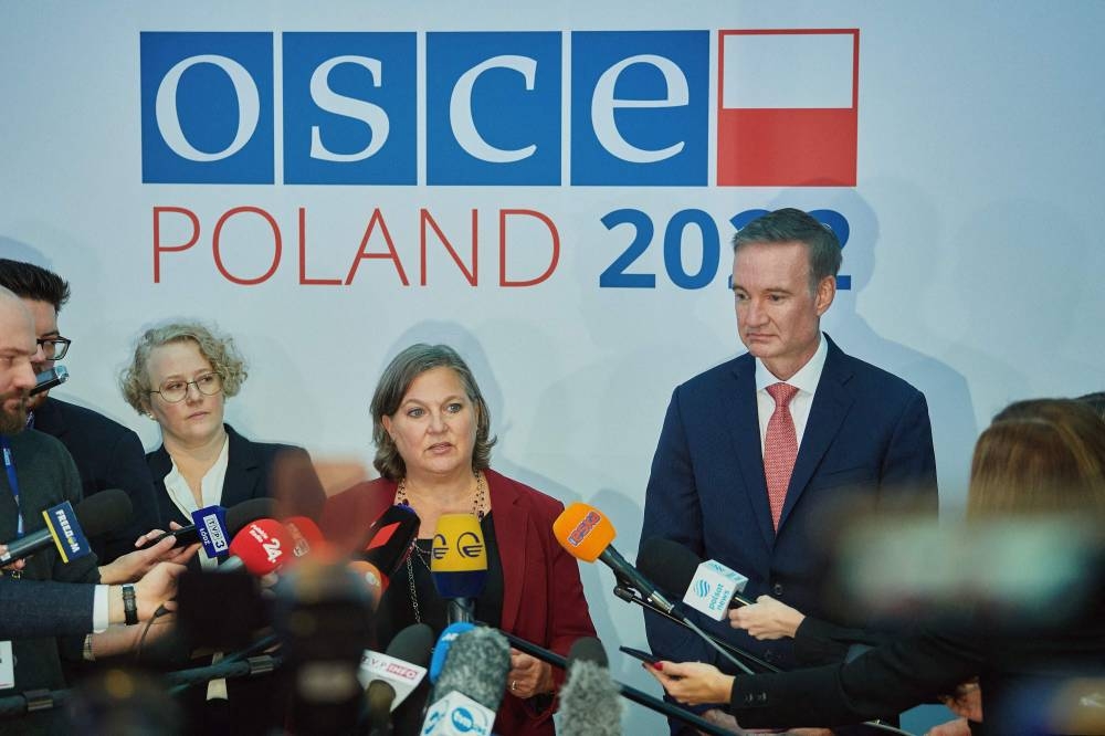
[(234, 338), (222, 335), (200, 322), (173, 322), (151, 327), (143, 333), (135, 343), (130, 365), (119, 374), (119, 390), (123, 391), (123, 398), (139, 414), (149, 411), (149, 393), (155, 390), (155, 387), (149, 386), (147, 370), (150, 353), (162, 345), (189, 340), (196, 344), (200, 355), (219, 374), (225, 397), (235, 396), (241, 390), (249, 371), (245, 370), (245, 359), (239, 353)]

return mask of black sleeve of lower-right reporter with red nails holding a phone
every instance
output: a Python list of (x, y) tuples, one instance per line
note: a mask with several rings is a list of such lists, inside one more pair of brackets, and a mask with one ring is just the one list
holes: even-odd
[[(1097, 602), (1074, 623), (934, 624), (846, 664), (737, 675), (730, 711), (744, 728), (839, 726), (905, 711), (978, 675), (980, 733), (1043, 733), (1030, 719), (1044, 714), (1049, 695), (1071, 676), (1103, 673), (1105, 607)], [(1056, 724), (1045, 730), (1066, 733)]]

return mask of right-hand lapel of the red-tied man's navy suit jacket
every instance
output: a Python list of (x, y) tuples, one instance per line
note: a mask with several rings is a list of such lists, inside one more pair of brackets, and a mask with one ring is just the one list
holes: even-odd
[[(829, 340), (829, 336), (824, 338)], [(821, 380), (813, 395), (810, 417), (806, 421), (806, 432), (802, 434), (802, 445), (798, 449), (794, 470), (790, 474), (790, 485), (787, 486), (787, 501), (782, 505), (779, 526), (787, 522), (790, 509), (798, 503), (806, 486), (813, 477), (814, 471), (824, 458), (825, 451), (832, 444), (833, 438), (840, 431), (844, 417), (854, 401), (845, 383), (852, 377), (845, 356), (832, 340), (829, 340), (829, 355), (825, 357)]]

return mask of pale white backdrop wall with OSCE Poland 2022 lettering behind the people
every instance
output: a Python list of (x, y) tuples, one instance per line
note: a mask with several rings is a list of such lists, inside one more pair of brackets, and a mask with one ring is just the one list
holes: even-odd
[[(251, 376), (228, 416), (246, 435), (303, 444), (317, 459), (365, 462), (371, 458), (367, 407), (380, 369), (412, 341), (450, 343), (471, 362), (488, 398), (499, 438), (494, 465), (566, 503), (582, 500), (603, 509), (621, 533), (617, 546), (632, 556), (672, 388), (741, 349), (726, 290), (729, 218), (783, 206), (831, 210), (848, 222), (842, 273), (851, 288), (839, 293), (824, 327), (845, 350), (925, 391), (941, 502), (954, 509), (962, 501), (971, 444), (994, 411), (1012, 399), (1103, 388), (1105, 347), (1098, 333), (1105, 292), (1098, 281), (1105, 252), (1093, 234), (1105, 201), (1105, 97), (1099, 91), (1105, 64), (1097, 38), (1103, 22), (1105, 6), (1094, 2), (778, 7), (609, 0), (526, 8), (498, 0), (8, 2), (0, 6), (0, 253), (45, 265), (72, 283), (61, 326), (74, 339), (65, 361), (73, 378), (59, 396), (135, 428), (149, 448), (158, 442), (156, 428), (126, 407), (115, 376), (134, 336), (150, 323), (200, 317), (239, 338)], [(854, 183), (718, 185), (715, 155), (719, 137), (728, 136), (718, 132), (719, 105), (851, 106), (850, 43), (819, 45), (814, 34), (762, 34), (755, 38), (767, 45), (729, 46), (719, 99), (719, 32), (778, 29), (859, 29), (857, 153), (854, 159), (845, 156), (845, 164), (854, 162)], [(628, 33), (649, 30), (669, 33)], [(261, 151), (262, 160), (274, 161), (267, 169), (243, 165), (243, 170), (267, 171), (276, 183), (230, 183), (221, 174), (212, 175), (211, 183), (181, 183), (179, 175), (166, 174), (171, 166), (158, 168), (154, 160), (154, 148), (165, 147), (151, 137), (159, 130), (151, 91), (161, 77), (149, 75), (166, 73), (158, 53), (171, 44), (164, 35), (147, 35), (144, 42), (140, 34), (188, 33), (183, 43), (194, 42), (188, 53), (202, 54), (209, 53), (202, 49), (206, 36), (196, 34), (203, 31), (259, 33), (262, 46), (270, 39), (273, 102), (261, 103), (249, 146)], [(351, 76), (350, 88), (357, 91), (347, 92), (364, 99), (379, 94), (382, 107), (408, 111), (407, 117), (396, 113), (390, 139), (407, 140), (408, 148), (393, 166), (366, 174), (382, 178), (360, 180), (378, 183), (297, 183), (302, 176), (285, 176), (280, 161), (287, 165), (293, 149), (305, 149), (309, 125), (320, 125), (324, 144), (336, 136), (330, 146), (345, 134), (368, 143), (368, 128), (350, 125), (348, 117), (323, 115), (313, 123), (302, 105), (311, 70), (281, 67), (282, 59), (298, 63), (282, 45), (292, 33), (338, 31), (398, 32), (402, 43), (411, 44), (393, 52), (400, 66), (403, 59), (418, 59), (408, 76), (393, 75), (386, 64), (379, 90), (367, 86), (367, 76)], [(466, 35), (484, 31), (509, 33), (496, 51), (498, 41)], [(543, 33), (518, 35), (526, 31)], [(627, 34), (594, 36), (596, 43), (582, 31)], [(224, 40), (227, 48), (236, 49), (238, 38)], [(330, 41), (336, 50), (345, 48), (338, 39), (301, 38), (316, 50)], [(633, 45), (640, 38), (643, 49)], [(586, 126), (571, 125), (576, 115), (585, 124), (591, 120), (590, 91), (573, 84), (573, 73), (593, 65), (589, 54), (618, 54), (625, 41), (623, 55), (663, 56), (664, 38), (675, 56), (686, 52), (688, 61), (676, 62), (690, 80), (686, 104), (677, 94), (669, 112), (643, 103), (652, 108), (636, 119), (638, 112), (619, 112), (613, 125), (622, 126), (619, 134), (639, 150), (683, 141), (685, 149), (670, 157), (690, 161), (672, 169), (677, 186), (669, 186), (669, 174), (656, 166), (638, 164), (629, 174), (606, 166), (587, 151)], [(841, 38), (852, 39), (834, 36)], [(528, 97), (515, 72), (486, 76), (492, 92), (505, 97), (481, 97), (487, 88), (477, 84), (477, 129), (501, 149), (540, 139), (534, 160), (548, 155), (550, 141), (554, 154), (557, 146), (560, 150), (545, 159), (544, 174), (523, 170), (518, 179), (448, 182), (467, 169), (451, 168), (444, 154), (439, 158), (449, 127), (436, 75), (467, 63), (464, 54), (478, 54), (484, 46), (488, 54), (526, 55), (532, 49), (540, 61), (536, 93)], [(543, 84), (550, 71), (551, 96)], [(145, 95), (149, 78), (144, 82), (144, 74), (152, 78)], [(262, 88), (263, 76), (254, 80)], [(662, 99), (664, 87), (656, 78), (628, 78), (614, 96)], [(672, 93), (675, 77), (663, 78)], [(397, 80), (406, 88), (388, 86)], [(183, 82), (181, 90), (186, 95)], [(550, 118), (547, 107), (526, 107), (534, 96), (541, 104), (556, 103), (554, 113), (562, 120)], [(238, 108), (225, 101), (225, 95), (201, 98), (191, 117), (181, 113), (185, 137), (201, 139), (208, 135), (204, 125), (213, 130), (209, 140), (232, 137)], [(681, 118), (683, 111), (693, 119)], [(669, 113), (674, 117), (664, 117)], [(282, 134), (292, 137), (285, 143)], [(230, 137), (208, 150), (227, 148)], [(298, 154), (295, 160), (301, 159)], [(482, 176), (484, 169), (472, 170)], [(407, 172), (412, 179), (402, 182)], [(608, 175), (613, 179), (596, 179)], [(282, 235), (275, 272), (256, 285), (228, 280), (212, 251), (217, 221), (239, 207), (263, 210)], [(160, 254), (157, 283), (155, 208), (189, 210), (200, 225), (194, 246)], [(401, 283), (392, 261), (357, 259), (377, 210), (410, 285)], [(465, 280), (432, 228), (421, 285), (420, 210), (467, 269), (476, 211), (477, 285)], [(552, 223), (559, 260), (546, 280), (499, 285), (499, 210), (536, 211)], [(633, 217), (655, 225), (652, 242), (624, 270), (655, 274), (654, 287), (600, 286), (600, 274), (630, 246), (634, 232), (629, 224), (602, 224), (618, 210), (635, 210)], [(706, 238), (705, 249), (719, 256), (716, 274), (709, 277), (715, 272), (707, 263), (708, 283), (701, 288), (681, 287), (667, 275), (682, 265), (693, 276), (703, 264), (703, 239), (691, 227), (682, 255), (676, 238), (674, 260), (665, 265), (664, 229), (683, 210), (705, 213), (697, 217), (713, 221), (718, 232), (716, 240)], [(535, 217), (513, 215), (507, 231), (507, 278), (537, 277), (550, 264), (549, 228)], [(183, 244), (190, 235), (186, 215), (162, 214), (161, 245)], [(387, 252), (379, 222), (364, 252)], [(221, 233), (220, 257), (239, 278), (264, 275), (274, 260), (271, 225), (257, 214), (231, 217)], [(355, 261), (348, 285), (301, 283), (301, 267), (307, 278), (344, 282)], [(608, 571), (585, 566), (582, 574), (608, 651), (641, 645), (640, 614), (609, 593)], [(614, 672), (656, 692), (632, 663), (618, 662)], [(643, 729), (638, 733), (660, 727), (659, 719), (635, 707), (627, 725)]]

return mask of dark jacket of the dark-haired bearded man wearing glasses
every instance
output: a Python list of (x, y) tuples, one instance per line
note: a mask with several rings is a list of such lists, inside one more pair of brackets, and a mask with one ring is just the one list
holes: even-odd
[(123, 488), (130, 496), (130, 523), (88, 540), (101, 564), (134, 551), (135, 539), (157, 528), (160, 518), (138, 435), (101, 413), (54, 398), (35, 409), (34, 429), (61, 440), (73, 455), (85, 498), (107, 488)]

